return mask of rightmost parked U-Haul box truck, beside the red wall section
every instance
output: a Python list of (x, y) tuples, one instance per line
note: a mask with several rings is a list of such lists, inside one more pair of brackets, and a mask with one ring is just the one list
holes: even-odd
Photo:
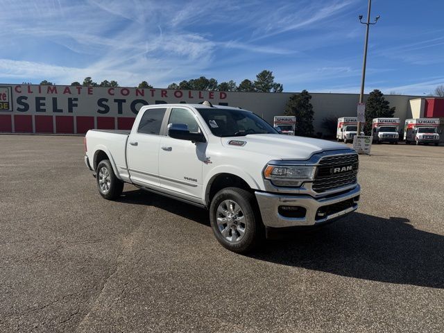
[(407, 119), (404, 126), (406, 144), (439, 144), (438, 118)]

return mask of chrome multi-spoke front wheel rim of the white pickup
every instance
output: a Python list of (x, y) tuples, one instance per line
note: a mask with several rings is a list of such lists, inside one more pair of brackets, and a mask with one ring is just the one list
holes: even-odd
[(245, 234), (245, 215), (233, 200), (224, 200), (216, 211), (217, 228), (228, 241), (240, 241)]

